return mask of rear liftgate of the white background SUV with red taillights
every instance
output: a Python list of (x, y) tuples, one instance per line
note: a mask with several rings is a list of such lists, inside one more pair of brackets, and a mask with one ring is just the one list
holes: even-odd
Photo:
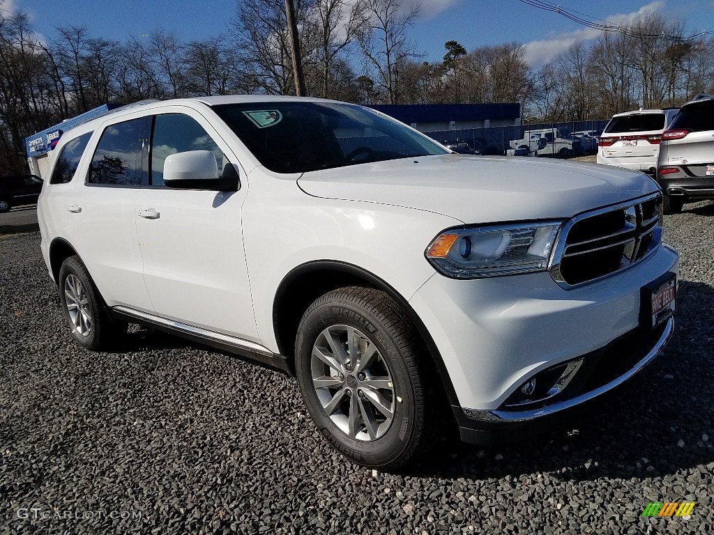
[(662, 131), (665, 128), (665, 114), (631, 113), (610, 119), (605, 126), (600, 143), (610, 139), (609, 146), (602, 146), (604, 158), (654, 158), (660, 148)]

